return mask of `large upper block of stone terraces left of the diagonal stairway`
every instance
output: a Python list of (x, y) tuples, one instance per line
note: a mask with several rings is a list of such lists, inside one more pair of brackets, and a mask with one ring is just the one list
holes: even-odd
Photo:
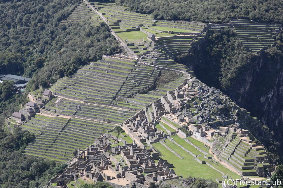
[(92, 104), (109, 105), (134, 68), (134, 61), (104, 59), (79, 69), (74, 76), (62, 78), (51, 91), (58, 96)]

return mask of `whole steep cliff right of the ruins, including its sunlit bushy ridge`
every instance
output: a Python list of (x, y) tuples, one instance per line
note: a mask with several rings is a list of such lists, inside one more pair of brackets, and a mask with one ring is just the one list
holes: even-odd
[[(188, 65), (197, 78), (207, 85), (221, 89), (239, 106), (251, 112), (270, 129), (268, 138), (274, 139), (270, 151), (283, 152), (283, 43), (260, 54), (245, 51), (233, 29), (208, 31), (205, 39), (192, 45), (192, 51), (176, 58)], [(255, 126), (253, 134), (264, 139), (266, 130)], [(274, 134), (274, 136), (273, 136)], [(262, 140), (264, 142), (264, 140)], [(266, 140), (268, 142), (268, 140)]]

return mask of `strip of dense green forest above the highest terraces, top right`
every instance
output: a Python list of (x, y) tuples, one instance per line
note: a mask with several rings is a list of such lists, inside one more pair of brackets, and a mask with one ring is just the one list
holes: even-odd
[(208, 23), (242, 18), (283, 23), (283, 1), (277, 0), (116, 0), (116, 3), (134, 12), (152, 13), (156, 19)]

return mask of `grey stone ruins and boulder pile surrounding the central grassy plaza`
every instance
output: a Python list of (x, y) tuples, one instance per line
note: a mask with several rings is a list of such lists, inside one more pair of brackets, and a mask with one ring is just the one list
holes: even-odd
[[(211, 98), (213, 100), (210, 100)], [(196, 102), (196, 99), (198, 102)], [(198, 103), (201, 104), (198, 105)], [(230, 108), (231, 105), (234, 108)], [(214, 113), (210, 112), (210, 109), (214, 109), (216, 106), (218, 109), (227, 106), (231, 111), (225, 116), (219, 116), (216, 111)], [(197, 110), (193, 112), (191, 108)], [(233, 114), (233, 112), (238, 112), (238, 114)], [(172, 168), (174, 163), (170, 164), (166, 160), (162, 160), (158, 151), (151, 147), (151, 144), (160, 142), (174, 155), (182, 158), (172, 148), (163, 143), (167, 138), (188, 154), (193, 155), (197, 162), (205, 164), (205, 161), (198, 159), (198, 156), (182, 147), (172, 138), (172, 135), (175, 134), (180, 139), (191, 135), (185, 134), (181, 130), (182, 125), (188, 125), (188, 131), (192, 133), (191, 136), (195, 139), (208, 146), (213, 145), (212, 154), (217, 153), (220, 156), (219, 161), (220, 159), (222, 161), (227, 160), (227, 165), (237, 170), (242, 176), (266, 176), (266, 169), (271, 167), (268, 156), (261, 145), (255, 144), (249, 139), (249, 131), (239, 127), (238, 122), (244, 121), (240, 116), (241, 114), (246, 114), (246, 112), (238, 108), (219, 90), (207, 87), (195, 78), (190, 77), (174, 91), (168, 91), (160, 99), (146, 106), (146, 108), (120, 125), (132, 138), (132, 144), (127, 144), (125, 140), (120, 139), (123, 146), (111, 147), (110, 145), (116, 144), (116, 141), (110, 142), (110, 140), (114, 139), (114, 135), (110, 131), (103, 137), (95, 139), (92, 146), (78, 151), (78, 156), (74, 158), (71, 165), (64, 169), (62, 174), (53, 177), (49, 184), (57, 183), (53, 187), (66, 187), (70, 181), (83, 178), (93, 182), (106, 181), (113, 187), (147, 188), (149, 182), (152, 181), (161, 182), (178, 179), (179, 176), (175, 174)], [(198, 118), (191, 118), (193, 116)], [(203, 116), (205, 117), (200, 120)], [(168, 127), (165, 126), (162, 127), (167, 130), (167, 134), (158, 130), (156, 124), (162, 122), (169, 128), (173, 128), (174, 131), (170, 132), (167, 130)], [(217, 137), (226, 138), (223, 151), (219, 151), (215, 145), (217, 142), (216, 135)], [(188, 140), (186, 142), (192, 144)], [(198, 150), (202, 151), (199, 148)], [(255, 153), (250, 154), (250, 151)], [(212, 159), (211, 154), (205, 151), (202, 151), (202, 153), (206, 159)], [(257, 154), (262, 156), (256, 157)], [(249, 158), (243, 156), (249, 156)], [(240, 169), (255, 170), (242, 172), (235, 168), (234, 165), (241, 158), (249, 166), (245, 166), (247, 164), (242, 164), (242, 166), (238, 164)], [(233, 159), (237, 160), (236, 163)], [(225, 177), (226, 175), (223, 173), (223, 178)], [(221, 180), (217, 181), (221, 182)], [(224, 186), (225, 182), (222, 182), (222, 185)]]

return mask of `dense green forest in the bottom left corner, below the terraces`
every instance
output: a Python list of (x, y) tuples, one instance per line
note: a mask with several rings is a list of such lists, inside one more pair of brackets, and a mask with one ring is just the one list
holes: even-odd
[(34, 139), (34, 134), (15, 128), (13, 134), (0, 128), (0, 187), (34, 188), (67, 167), (54, 161), (23, 155), (23, 149)]

